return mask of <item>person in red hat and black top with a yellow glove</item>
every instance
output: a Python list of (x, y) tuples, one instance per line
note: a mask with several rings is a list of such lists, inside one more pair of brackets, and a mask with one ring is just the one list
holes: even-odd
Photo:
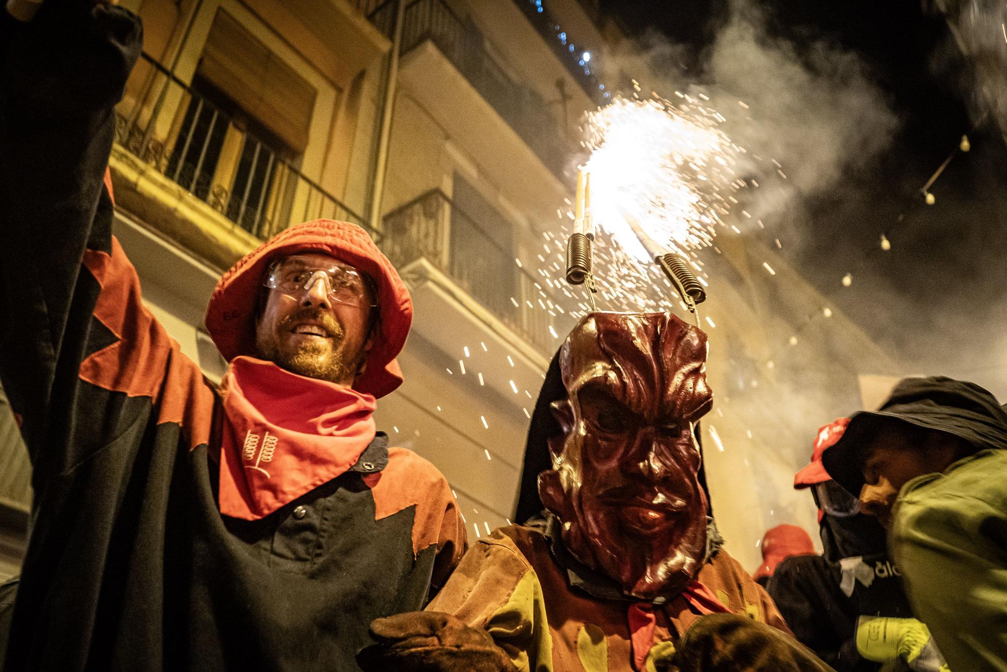
[(877, 672), (895, 661), (915, 672), (947, 669), (926, 626), (912, 618), (884, 528), (822, 465), (848, 423), (820, 427), (811, 462), (794, 478), (815, 498), (825, 552), (783, 560), (766, 590), (794, 636), (839, 672)]

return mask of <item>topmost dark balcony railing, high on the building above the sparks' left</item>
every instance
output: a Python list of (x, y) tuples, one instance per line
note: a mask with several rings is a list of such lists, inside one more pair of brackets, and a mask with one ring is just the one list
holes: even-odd
[(562, 178), (569, 147), (559, 122), (545, 111), (546, 102), (537, 93), (512, 81), (496, 64), (478, 29), (458, 18), (442, 0), (417, 0), (406, 8), (402, 52), (427, 39)]

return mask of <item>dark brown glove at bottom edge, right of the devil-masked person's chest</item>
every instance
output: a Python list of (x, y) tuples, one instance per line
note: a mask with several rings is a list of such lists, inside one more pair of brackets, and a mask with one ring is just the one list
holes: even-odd
[(734, 614), (698, 619), (675, 649), (679, 672), (835, 672), (793, 637)]

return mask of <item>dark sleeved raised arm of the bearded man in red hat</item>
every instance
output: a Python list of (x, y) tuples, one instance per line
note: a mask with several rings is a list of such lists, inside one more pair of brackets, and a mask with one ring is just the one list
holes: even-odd
[(103, 176), (141, 28), (87, 0), (46, 0), (27, 23), (2, 14), (0, 375), (37, 471), (41, 446), (70, 433), (80, 363), (98, 338), (101, 286), (81, 262), (86, 249), (112, 250)]

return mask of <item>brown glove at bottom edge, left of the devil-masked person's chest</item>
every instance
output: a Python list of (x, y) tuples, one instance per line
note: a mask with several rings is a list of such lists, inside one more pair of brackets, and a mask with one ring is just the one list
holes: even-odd
[(440, 612), (408, 612), (377, 619), (378, 644), (356, 654), (367, 672), (513, 672), (515, 667), (489, 633)]

